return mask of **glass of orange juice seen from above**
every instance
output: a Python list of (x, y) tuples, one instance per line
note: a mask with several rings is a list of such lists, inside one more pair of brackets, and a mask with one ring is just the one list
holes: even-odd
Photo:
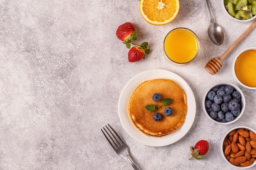
[(164, 57), (176, 66), (191, 62), (197, 56), (199, 48), (197, 35), (187, 28), (175, 28), (164, 38)]

